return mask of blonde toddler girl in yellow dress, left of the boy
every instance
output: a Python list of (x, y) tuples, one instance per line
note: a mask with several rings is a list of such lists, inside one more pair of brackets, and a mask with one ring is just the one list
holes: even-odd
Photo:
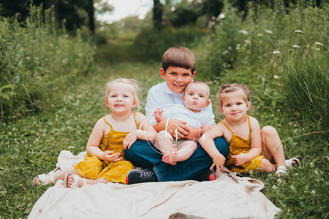
[(119, 78), (108, 82), (104, 103), (111, 113), (95, 124), (84, 160), (59, 173), (38, 175), (34, 184), (55, 183), (58, 179), (63, 179), (68, 188), (98, 182), (125, 184), (134, 166), (124, 159), (123, 149), (129, 149), (137, 139), (154, 141), (157, 132), (143, 114), (132, 111), (140, 106), (134, 80)]

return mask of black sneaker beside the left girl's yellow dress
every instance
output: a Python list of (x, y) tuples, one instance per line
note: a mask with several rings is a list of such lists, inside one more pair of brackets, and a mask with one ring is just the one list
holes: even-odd
[(142, 182), (159, 182), (157, 175), (151, 169), (133, 169), (129, 171), (126, 177), (126, 184), (136, 184)]

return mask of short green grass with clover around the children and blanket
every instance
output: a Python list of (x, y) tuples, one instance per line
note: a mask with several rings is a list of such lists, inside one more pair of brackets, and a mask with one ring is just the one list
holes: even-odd
[[(113, 41), (99, 46), (92, 70), (69, 85), (59, 87), (57, 95), (49, 100), (49, 104), (54, 104), (54, 112), (44, 111), (35, 117), (0, 124), (1, 218), (26, 218), (38, 198), (52, 186), (33, 186), (33, 178), (53, 170), (60, 151), (78, 154), (85, 150), (93, 125), (102, 116), (97, 104), (99, 91), (109, 78), (138, 79), (144, 88), (142, 102), (146, 100), (148, 89), (163, 81), (159, 71), (161, 60), (138, 62), (138, 53), (129, 53), (133, 49), (129, 42)], [(270, 71), (264, 73), (256, 69), (250, 74), (248, 70), (234, 69), (227, 71), (219, 81), (207, 78), (206, 72), (198, 66), (196, 71), (195, 79), (210, 84), (212, 98), (222, 83), (247, 84), (255, 105), (252, 116), (261, 126), (272, 125), (278, 130), (286, 158), (299, 157), (301, 165), (280, 179), (274, 174), (251, 176), (265, 183), (261, 192), (282, 209), (277, 217), (328, 218), (328, 137), (323, 133), (296, 137), (317, 131), (318, 126), (287, 110), (286, 98), (279, 92), (282, 79), (273, 79)]]

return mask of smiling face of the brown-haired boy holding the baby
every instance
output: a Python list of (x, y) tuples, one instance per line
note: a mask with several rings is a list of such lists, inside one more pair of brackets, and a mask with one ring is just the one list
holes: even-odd
[(169, 67), (166, 72), (161, 68), (160, 72), (168, 88), (175, 94), (184, 92), (186, 85), (190, 83), (195, 75), (195, 71), (192, 73), (191, 69), (178, 67)]

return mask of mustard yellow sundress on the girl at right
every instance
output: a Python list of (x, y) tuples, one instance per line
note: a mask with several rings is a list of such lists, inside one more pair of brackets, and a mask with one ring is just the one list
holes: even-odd
[(248, 118), (248, 124), (249, 124), (249, 139), (243, 139), (238, 135), (235, 135), (230, 127), (228, 127), (223, 121), (220, 121), (220, 123), (223, 123), (231, 132), (232, 132), (232, 138), (228, 142), (230, 146), (230, 150), (228, 152), (228, 160), (226, 160), (225, 165), (227, 169), (230, 171), (238, 172), (241, 174), (252, 174), (252, 173), (257, 173), (259, 171), (259, 167), (261, 166), (262, 159), (264, 157), (264, 153), (262, 151), (262, 154), (260, 156), (257, 156), (253, 160), (251, 160), (249, 163), (236, 166), (235, 165), (235, 159), (232, 158), (232, 155), (238, 155), (240, 153), (248, 153), (250, 151), (250, 137), (251, 137), (251, 127), (250, 127), (250, 120), (249, 116), (247, 115)]

